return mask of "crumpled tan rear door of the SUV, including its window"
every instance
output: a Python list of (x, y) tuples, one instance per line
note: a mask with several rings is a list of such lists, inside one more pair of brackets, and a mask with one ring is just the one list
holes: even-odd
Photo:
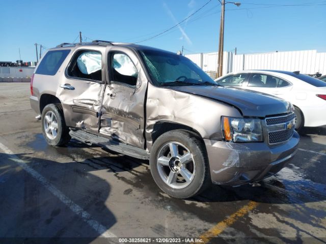
[(75, 49), (60, 80), (60, 98), (69, 127), (98, 133), (104, 92), (104, 46)]

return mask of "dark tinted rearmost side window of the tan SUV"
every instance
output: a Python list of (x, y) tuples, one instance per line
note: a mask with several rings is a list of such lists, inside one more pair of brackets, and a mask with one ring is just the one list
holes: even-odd
[(55, 75), (69, 52), (70, 50), (68, 49), (48, 51), (35, 73), (40, 75)]

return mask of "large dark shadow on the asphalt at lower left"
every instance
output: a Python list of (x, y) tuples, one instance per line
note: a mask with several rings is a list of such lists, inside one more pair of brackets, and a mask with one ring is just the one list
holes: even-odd
[(111, 186), (91, 173), (96, 164), (88, 164), (0, 153), (0, 236), (17, 243), (35, 238), (35, 243), (83, 244), (110, 232), (117, 222), (105, 204)]

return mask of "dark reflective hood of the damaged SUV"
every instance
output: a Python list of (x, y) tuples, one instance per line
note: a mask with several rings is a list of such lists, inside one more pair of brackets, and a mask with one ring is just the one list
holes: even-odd
[(238, 108), (243, 116), (265, 117), (291, 111), (289, 102), (264, 93), (241, 88), (199, 85), (170, 86), (169, 88), (229, 104)]

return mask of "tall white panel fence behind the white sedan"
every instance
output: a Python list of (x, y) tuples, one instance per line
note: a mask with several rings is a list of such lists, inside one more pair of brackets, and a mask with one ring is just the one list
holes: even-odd
[[(216, 73), (218, 53), (186, 54), (212, 77)], [(285, 70), (303, 74), (326, 73), (326, 52), (316, 50), (267, 52), (254, 54), (223, 53), (223, 75), (241, 70)]]

